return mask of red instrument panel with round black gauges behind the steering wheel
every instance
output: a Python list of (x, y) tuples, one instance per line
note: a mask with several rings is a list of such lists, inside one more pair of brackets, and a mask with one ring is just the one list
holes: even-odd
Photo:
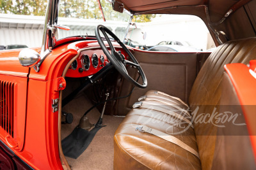
[(84, 50), (72, 62), (66, 76), (79, 78), (91, 76), (108, 64), (109, 60), (102, 50)]

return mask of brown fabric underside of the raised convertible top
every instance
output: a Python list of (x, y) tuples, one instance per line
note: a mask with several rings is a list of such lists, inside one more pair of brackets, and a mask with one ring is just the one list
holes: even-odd
[[(216, 45), (221, 41), (255, 36), (253, 17), (255, 1), (251, 0), (117, 0), (126, 10), (140, 14), (184, 14), (200, 17), (211, 32)], [(243, 7), (243, 8), (242, 8)], [(248, 14), (249, 13), (249, 14)], [(231, 17), (232, 15), (232, 17)], [(247, 16), (248, 15), (248, 16)], [(247, 18), (249, 17), (249, 18)], [(226, 18), (228, 18), (226, 20)], [(251, 20), (251, 21), (250, 21)], [(241, 24), (243, 23), (243, 24)], [(234, 27), (234, 25), (239, 25)], [(249, 29), (250, 28), (250, 29)], [(214, 31), (214, 32), (213, 32)], [(218, 31), (221, 31), (218, 32)], [(224, 35), (224, 36), (223, 36)]]

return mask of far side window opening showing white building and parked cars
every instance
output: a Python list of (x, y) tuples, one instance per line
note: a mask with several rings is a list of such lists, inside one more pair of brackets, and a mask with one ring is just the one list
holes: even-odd
[[(132, 45), (132, 42), (138, 42)], [(141, 50), (202, 52), (215, 47), (204, 21), (193, 15), (136, 15), (127, 33), (126, 44)]]

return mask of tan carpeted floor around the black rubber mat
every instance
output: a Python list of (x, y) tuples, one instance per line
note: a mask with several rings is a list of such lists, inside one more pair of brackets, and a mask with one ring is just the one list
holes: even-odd
[[(68, 136), (74, 128), (79, 124), (80, 118), (84, 112), (92, 106), (92, 103), (84, 97), (80, 96), (67, 104), (63, 111), (72, 113), (74, 121), (72, 124), (61, 125), (61, 139)], [(88, 113), (91, 124), (95, 124), (100, 116), (100, 112), (95, 108)], [(67, 157), (68, 164), (72, 169), (113, 169), (114, 144), (113, 137), (118, 125), (123, 118), (104, 115), (102, 129), (97, 132), (95, 138), (88, 148), (77, 159)]]

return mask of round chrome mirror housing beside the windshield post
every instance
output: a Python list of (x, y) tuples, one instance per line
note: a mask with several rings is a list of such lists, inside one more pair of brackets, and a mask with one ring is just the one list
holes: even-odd
[(29, 48), (21, 50), (19, 53), (19, 61), (22, 66), (33, 67), (40, 62), (40, 59), (39, 53)]

